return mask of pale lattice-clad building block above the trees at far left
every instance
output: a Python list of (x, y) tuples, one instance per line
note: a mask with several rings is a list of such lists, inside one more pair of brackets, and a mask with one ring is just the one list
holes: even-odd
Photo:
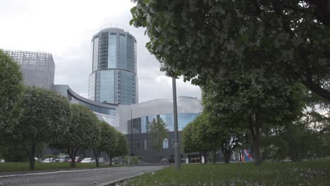
[(4, 50), (20, 65), (24, 85), (51, 89), (54, 85), (55, 63), (50, 53)]

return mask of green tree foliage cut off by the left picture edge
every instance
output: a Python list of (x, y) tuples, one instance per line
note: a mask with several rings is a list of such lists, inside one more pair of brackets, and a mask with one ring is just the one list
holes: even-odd
[(23, 99), (23, 75), (16, 61), (0, 49), (0, 138), (19, 121)]

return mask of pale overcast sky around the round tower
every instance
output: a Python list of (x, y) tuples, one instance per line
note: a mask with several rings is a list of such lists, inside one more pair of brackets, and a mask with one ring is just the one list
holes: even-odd
[[(87, 97), (92, 36), (105, 27), (121, 27), (138, 42), (139, 101), (172, 98), (171, 78), (145, 49), (145, 29), (129, 25), (130, 0), (0, 0), (0, 5), (0, 49), (53, 54), (55, 84)], [(190, 82), (176, 84), (178, 96), (201, 97)]]

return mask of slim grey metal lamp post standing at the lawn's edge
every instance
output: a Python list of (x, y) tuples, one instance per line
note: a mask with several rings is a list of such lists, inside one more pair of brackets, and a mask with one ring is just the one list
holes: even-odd
[(174, 160), (176, 169), (181, 169), (180, 142), (178, 137), (178, 107), (176, 105), (176, 78), (172, 77), (174, 117)]

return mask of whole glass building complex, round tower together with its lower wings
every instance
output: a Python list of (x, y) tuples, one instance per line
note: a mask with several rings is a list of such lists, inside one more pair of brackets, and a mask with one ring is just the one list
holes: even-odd
[[(104, 44), (106, 38), (107, 46)], [(160, 154), (164, 158), (174, 159), (173, 100), (154, 99), (138, 103), (134, 37), (121, 29), (109, 28), (93, 37), (92, 46), (94, 59), (89, 92), (92, 96), (90, 98), (94, 98), (92, 100), (81, 97), (68, 85), (54, 85), (55, 65), (51, 54), (5, 51), (20, 64), (25, 85), (37, 85), (54, 90), (67, 97), (71, 103), (87, 106), (100, 120), (106, 121), (126, 135), (130, 142), (130, 154), (142, 156), (148, 163), (158, 163), (159, 153), (152, 147), (147, 126), (153, 119), (161, 118), (169, 128), (169, 137), (164, 139)], [(201, 111), (200, 99), (178, 97), (179, 131), (193, 121)], [(184, 159), (188, 154), (182, 153), (181, 156)]]

